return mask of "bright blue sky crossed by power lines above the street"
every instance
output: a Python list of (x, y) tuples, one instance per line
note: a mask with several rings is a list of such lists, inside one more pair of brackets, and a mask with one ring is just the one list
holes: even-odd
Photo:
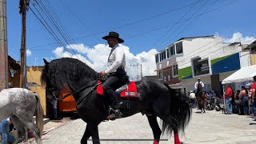
[[(20, 55), (22, 28), (18, 2), (7, 1), (8, 53), (16, 60)], [(234, 34), (245, 40), (256, 37), (255, 0), (38, 1), (39, 4), (40, 2), (54, 11), (54, 17), (58, 17), (58, 26), (65, 27), (66, 38), (74, 39), (65, 42), (56, 32), (62, 44), (68, 49), (72, 49), (68, 45), (74, 44), (76, 50), (70, 50), (71, 54), (67, 54), (63, 45), (56, 43), (29, 10), (26, 17), (28, 66), (42, 66), (42, 58), (50, 61), (71, 55), (73, 58), (83, 59), (95, 70), (102, 70), (110, 51), (102, 37), (110, 30), (117, 31), (125, 40), (123, 46), (130, 54), (127, 56), (130, 62), (142, 63), (145, 73), (155, 70), (155, 65), (152, 64), (154, 60), (151, 59), (154, 59), (158, 50), (182, 37), (218, 34), (227, 42), (234, 40)], [(31, 9), (39, 10), (38, 3), (30, 0)], [(42, 11), (37, 14), (43, 15)], [(44, 18), (46, 17), (44, 14)], [(153, 74), (153, 71), (149, 74)]]

